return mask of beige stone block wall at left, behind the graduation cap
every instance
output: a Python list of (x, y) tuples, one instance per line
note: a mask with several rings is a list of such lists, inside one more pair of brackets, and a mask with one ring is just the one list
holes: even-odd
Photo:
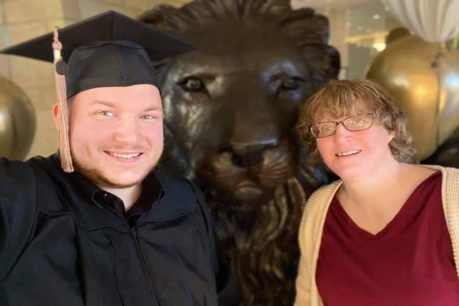
[[(0, 0), (0, 48), (40, 36), (95, 14), (114, 10), (137, 17), (158, 4), (180, 6), (187, 0)], [(30, 97), (37, 129), (28, 157), (48, 156), (57, 150), (51, 116), (55, 103), (54, 71), (50, 63), (0, 55), (0, 75), (11, 79)]]

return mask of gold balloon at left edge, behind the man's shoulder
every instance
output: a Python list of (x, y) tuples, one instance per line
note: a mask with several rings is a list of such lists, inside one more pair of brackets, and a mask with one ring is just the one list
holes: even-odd
[(0, 157), (22, 160), (35, 133), (35, 112), (28, 96), (0, 77)]

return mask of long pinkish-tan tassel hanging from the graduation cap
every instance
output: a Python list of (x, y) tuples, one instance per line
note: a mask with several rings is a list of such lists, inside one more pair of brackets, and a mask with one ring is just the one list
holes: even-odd
[(54, 49), (54, 77), (56, 81), (56, 96), (59, 107), (58, 125), (59, 125), (59, 155), (61, 158), (61, 167), (67, 172), (73, 172), (72, 157), (70, 155), (70, 141), (68, 134), (68, 105), (67, 90), (65, 84), (65, 74), (57, 72), (57, 65), (62, 61), (61, 49), (62, 43), (59, 41), (58, 28), (54, 30), (53, 39)]

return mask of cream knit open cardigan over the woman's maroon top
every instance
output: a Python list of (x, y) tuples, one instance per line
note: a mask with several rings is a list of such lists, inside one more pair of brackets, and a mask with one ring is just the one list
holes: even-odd
[[(443, 211), (459, 278), (459, 169), (440, 166), (426, 167), (442, 171)], [(295, 306), (323, 305), (316, 286), (317, 258), (325, 216), (341, 184), (341, 181), (337, 181), (319, 188), (310, 196), (304, 208), (298, 234), (301, 258), (296, 278)]]

